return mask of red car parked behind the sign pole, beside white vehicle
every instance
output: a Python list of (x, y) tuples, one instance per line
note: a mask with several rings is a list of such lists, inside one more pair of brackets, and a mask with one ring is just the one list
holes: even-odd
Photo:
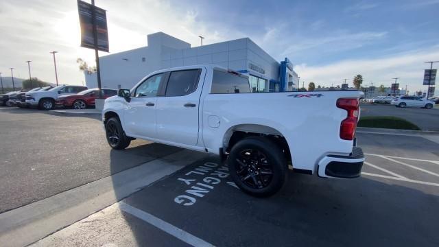
[[(87, 89), (75, 95), (62, 95), (55, 100), (56, 106), (71, 107), (74, 109), (85, 109), (88, 106), (95, 106), (95, 99), (99, 95), (99, 89)], [(102, 89), (104, 99), (117, 95), (116, 89)]]

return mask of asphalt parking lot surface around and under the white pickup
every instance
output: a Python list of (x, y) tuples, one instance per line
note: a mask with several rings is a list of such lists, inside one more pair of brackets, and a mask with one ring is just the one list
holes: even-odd
[[(159, 159), (159, 165), (171, 165), (177, 161), (169, 156), (181, 152), (146, 141), (112, 152), (96, 117), (22, 110), (0, 109), (6, 149), (0, 154), (9, 161), (0, 167), (6, 210), (86, 191), (106, 178), (116, 187), (118, 175)], [(52, 124), (56, 127), (49, 128)], [(78, 131), (71, 134), (72, 129)], [(34, 246), (438, 246), (439, 143), (413, 134), (359, 132), (357, 139), (366, 153), (361, 178), (290, 172), (275, 196), (253, 198), (235, 187), (226, 164), (206, 156), (128, 196), (115, 190), (123, 200), (87, 213)], [(34, 163), (39, 173), (32, 173)], [(2, 238), (1, 226), (0, 239), (15, 240)]]

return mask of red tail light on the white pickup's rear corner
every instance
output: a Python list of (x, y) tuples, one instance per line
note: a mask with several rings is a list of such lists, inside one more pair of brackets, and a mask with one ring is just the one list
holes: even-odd
[(358, 99), (337, 99), (337, 107), (348, 112), (348, 117), (340, 124), (340, 138), (344, 140), (353, 140), (355, 129), (357, 128), (359, 102)]

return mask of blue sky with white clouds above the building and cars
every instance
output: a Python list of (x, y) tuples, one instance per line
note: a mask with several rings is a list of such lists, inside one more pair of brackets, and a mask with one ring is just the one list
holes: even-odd
[[(390, 86), (401, 78), (423, 89), (424, 61), (439, 60), (439, 0), (396, 1), (189, 1), (96, 0), (107, 10), (111, 53), (147, 45), (146, 34), (165, 32), (198, 46), (249, 37), (276, 60), (288, 57), (305, 83), (340, 84), (361, 73), (364, 84)], [(0, 72), (63, 84), (82, 84), (76, 58), (93, 63), (80, 47), (75, 0), (0, 1)], [(101, 56), (106, 53), (100, 52)], [(436, 64), (439, 67), (439, 64)]]

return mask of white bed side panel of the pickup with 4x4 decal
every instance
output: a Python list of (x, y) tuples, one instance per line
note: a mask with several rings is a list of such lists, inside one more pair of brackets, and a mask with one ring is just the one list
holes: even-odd
[[(204, 145), (218, 153), (230, 128), (268, 126), (287, 140), (293, 167), (314, 172), (323, 156), (351, 153), (353, 141), (340, 139), (340, 123), (347, 112), (335, 104), (338, 98), (360, 95), (358, 91), (207, 94), (202, 108)], [(219, 118), (217, 128), (207, 124), (212, 115)]]

